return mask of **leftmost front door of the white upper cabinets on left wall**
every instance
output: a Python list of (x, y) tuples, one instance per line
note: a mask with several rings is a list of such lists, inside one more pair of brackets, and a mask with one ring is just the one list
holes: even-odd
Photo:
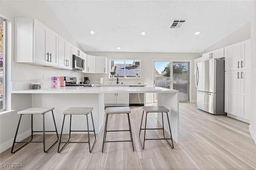
[(40, 63), (48, 63), (48, 55), (46, 54), (46, 42), (48, 28), (38, 20), (34, 20), (34, 61)]

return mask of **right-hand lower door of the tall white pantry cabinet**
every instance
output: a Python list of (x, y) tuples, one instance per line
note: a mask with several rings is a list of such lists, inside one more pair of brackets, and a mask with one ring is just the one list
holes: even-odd
[(241, 117), (250, 120), (251, 71), (241, 71)]

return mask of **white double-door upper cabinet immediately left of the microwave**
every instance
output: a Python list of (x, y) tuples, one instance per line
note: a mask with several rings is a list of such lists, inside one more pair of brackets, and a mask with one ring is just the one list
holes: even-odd
[(73, 45), (59, 36), (59, 66), (72, 69), (72, 49)]

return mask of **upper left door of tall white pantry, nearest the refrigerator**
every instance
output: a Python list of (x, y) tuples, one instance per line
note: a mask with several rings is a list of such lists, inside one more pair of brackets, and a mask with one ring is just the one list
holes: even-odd
[(225, 71), (241, 68), (241, 42), (225, 47)]

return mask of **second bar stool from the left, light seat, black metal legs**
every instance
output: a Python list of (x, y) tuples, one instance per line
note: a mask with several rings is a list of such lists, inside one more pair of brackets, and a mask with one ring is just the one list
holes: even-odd
[[(89, 151), (90, 151), (90, 153), (92, 153), (92, 149), (94, 148), (94, 144), (95, 144), (95, 141), (96, 141), (96, 134), (95, 134), (93, 119), (92, 119), (93, 130), (89, 130), (89, 125), (88, 125), (88, 114), (91, 113), (91, 116), (92, 116), (92, 110), (93, 110), (92, 107), (70, 107), (69, 109), (62, 112), (62, 114), (64, 115), (64, 118), (63, 118), (61, 133), (60, 133), (60, 142), (59, 142), (59, 146), (58, 146), (58, 153), (60, 153), (63, 150), (63, 148), (66, 146), (66, 144), (68, 144), (68, 143), (88, 143), (89, 144)], [(62, 131), (63, 131), (63, 126), (64, 126), (64, 121), (65, 121), (66, 115), (70, 115), (69, 138), (68, 138), (68, 141), (61, 142)], [(87, 130), (71, 130), (71, 117), (72, 117), (72, 115), (86, 115)], [(69, 140), (70, 140), (71, 132), (88, 132), (88, 142), (85, 142), (85, 141), (83, 141), (83, 142), (70, 142)], [(94, 139), (92, 148), (91, 148), (91, 145), (90, 145), (89, 132), (94, 132), (94, 138), (95, 139)], [(61, 143), (65, 143), (65, 144), (60, 149), (60, 144)]]

